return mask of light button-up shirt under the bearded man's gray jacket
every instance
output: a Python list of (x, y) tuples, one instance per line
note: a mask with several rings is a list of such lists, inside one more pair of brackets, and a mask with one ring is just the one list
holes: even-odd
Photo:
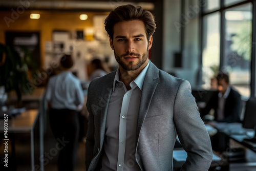
[(141, 170), (135, 159), (136, 127), (142, 86), (149, 63), (127, 91), (116, 72), (111, 94), (101, 170)]

